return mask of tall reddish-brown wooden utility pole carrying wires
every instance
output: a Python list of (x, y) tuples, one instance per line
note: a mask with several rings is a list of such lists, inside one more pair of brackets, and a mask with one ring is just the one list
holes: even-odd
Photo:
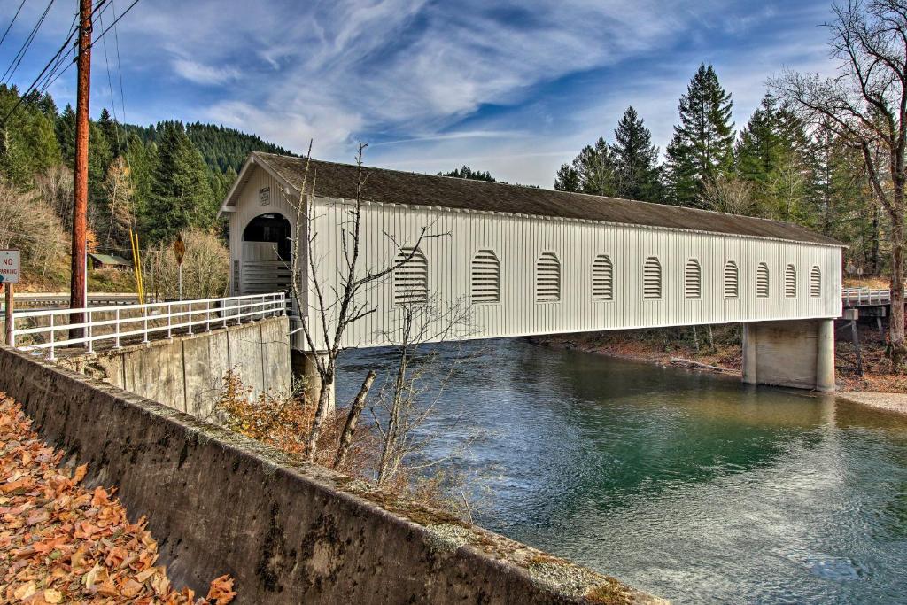
[[(73, 279), (69, 307), (88, 306), (85, 296), (85, 231), (88, 214), (88, 102), (92, 78), (92, 0), (79, 0), (79, 56), (76, 67), (78, 90), (75, 101), (75, 174), (73, 175)], [(82, 313), (70, 316), (70, 323), (81, 324)], [(81, 338), (84, 328), (70, 329), (70, 338)]]

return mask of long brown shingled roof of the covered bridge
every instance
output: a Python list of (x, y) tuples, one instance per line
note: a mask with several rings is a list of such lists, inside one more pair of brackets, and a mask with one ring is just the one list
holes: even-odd
[[(306, 168), (305, 159), (260, 151), (253, 151), (252, 155), (294, 189), (301, 190)], [(311, 185), (313, 174), (317, 173), (315, 191), (317, 196), (356, 198), (356, 166), (312, 160), (309, 171), (308, 186)], [(368, 180), (363, 197), (369, 201), (564, 219), (602, 220), (627, 225), (690, 229), (844, 246), (839, 241), (780, 220), (756, 219), (644, 201), (619, 200), (584, 193), (502, 185), (416, 172), (371, 167), (366, 168), (366, 172)], [(230, 201), (228, 198), (225, 206), (231, 205)]]

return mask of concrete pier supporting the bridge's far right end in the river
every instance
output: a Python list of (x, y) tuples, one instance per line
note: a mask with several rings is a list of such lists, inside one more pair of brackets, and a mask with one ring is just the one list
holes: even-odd
[(834, 319), (744, 324), (743, 381), (834, 391)]

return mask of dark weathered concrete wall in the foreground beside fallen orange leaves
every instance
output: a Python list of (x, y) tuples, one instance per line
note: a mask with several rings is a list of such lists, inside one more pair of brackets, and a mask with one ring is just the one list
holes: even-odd
[[(518, 542), (367, 491), (112, 385), (0, 347), (0, 391), (147, 515), (171, 580), (241, 603), (655, 602)], [(594, 595), (589, 597), (587, 595)]]

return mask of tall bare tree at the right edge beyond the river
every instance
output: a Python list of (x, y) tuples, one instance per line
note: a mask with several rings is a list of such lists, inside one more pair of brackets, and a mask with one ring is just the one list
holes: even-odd
[[(892, 222), (892, 366), (904, 342), (904, 152), (907, 151), (907, 2), (851, 0), (834, 7), (834, 77), (786, 72), (770, 85), (813, 124), (824, 124), (863, 155), (873, 195)], [(878, 154), (878, 151), (882, 151)], [(890, 183), (890, 185), (889, 185)]]

